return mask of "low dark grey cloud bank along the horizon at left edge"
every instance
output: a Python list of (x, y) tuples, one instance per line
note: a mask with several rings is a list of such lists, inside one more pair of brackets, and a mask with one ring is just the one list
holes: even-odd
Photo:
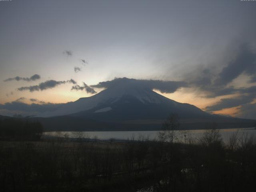
[(23, 111), (23, 112), (48, 112), (57, 110), (63, 104), (45, 103), (45, 104), (26, 104), (23, 102), (13, 101), (5, 104), (0, 104), (0, 110), (8, 111)]

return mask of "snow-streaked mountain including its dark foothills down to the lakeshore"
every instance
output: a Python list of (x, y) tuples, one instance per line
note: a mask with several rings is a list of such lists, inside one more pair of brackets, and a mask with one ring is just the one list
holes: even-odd
[(120, 84), (91, 97), (64, 104), (33, 119), (47, 130), (159, 130), (169, 114), (178, 114), (181, 127), (251, 127), (253, 120), (208, 114), (194, 105), (179, 103), (150, 89)]

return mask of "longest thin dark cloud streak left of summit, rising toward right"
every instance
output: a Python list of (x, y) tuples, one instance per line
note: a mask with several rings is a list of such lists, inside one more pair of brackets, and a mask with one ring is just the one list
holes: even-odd
[(29, 90), (30, 92), (39, 91), (39, 90), (42, 91), (42, 90), (51, 89), (60, 84), (66, 84), (66, 83), (76, 84), (76, 81), (74, 81), (73, 79), (70, 79), (67, 81), (48, 80), (46, 82), (40, 83), (39, 85), (20, 87), (18, 88), (18, 91), (25, 91), (25, 90)]

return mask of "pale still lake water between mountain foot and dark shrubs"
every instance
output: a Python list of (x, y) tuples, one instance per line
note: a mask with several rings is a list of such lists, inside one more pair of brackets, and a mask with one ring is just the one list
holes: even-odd
[[(179, 142), (185, 142), (185, 138), (188, 141), (190, 138), (200, 138), (206, 130), (185, 130), (176, 131), (176, 135)], [(229, 138), (237, 134), (238, 138), (241, 136), (256, 136), (255, 128), (240, 128), (240, 129), (220, 129), (220, 135), (225, 143)], [(140, 140), (142, 138), (154, 140), (158, 138), (159, 131), (89, 131), (89, 132), (44, 132), (43, 137), (60, 136), (68, 138), (90, 138), (99, 140)], [(186, 136), (185, 136), (186, 135)]]

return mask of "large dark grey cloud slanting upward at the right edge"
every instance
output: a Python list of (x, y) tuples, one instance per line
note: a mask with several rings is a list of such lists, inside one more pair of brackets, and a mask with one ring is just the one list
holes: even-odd
[(250, 50), (248, 44), (240, 45), (240, 50), (234, 61), (225, 66), (218, 78), (214, 81), (215, 86), (225, 86), (232, 82), (240, 74), (245, 73), (253, 80), (256, 78), (256, 54)]

